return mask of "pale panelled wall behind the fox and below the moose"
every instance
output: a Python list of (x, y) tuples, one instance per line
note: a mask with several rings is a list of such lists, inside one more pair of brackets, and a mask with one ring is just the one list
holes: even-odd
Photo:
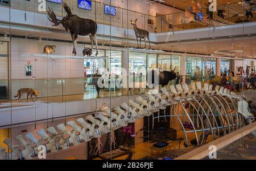
[[(31, 55), (42, 54), (45, 45), (56, 45), (56, 55), (72, 55), (73, 44), (11, 39), (12, 96), (16, 95), (19, 88), (35, 88), (40, 92), (40, 97), (84, 93), (84, 59), (53, 59)], [(81, 54), (82, 49), (82, 45), (77, 45), (77, 52)], [(28, 62), (32, 65), (32, 76), (25, 74), (25, 66)], [(62, 84), (57, 82), (63, 79), (64, 89)]]

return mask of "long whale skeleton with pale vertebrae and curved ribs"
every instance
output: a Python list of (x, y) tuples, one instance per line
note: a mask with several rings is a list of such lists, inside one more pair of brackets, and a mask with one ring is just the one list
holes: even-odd
[[(166, 115), (166, 109), (170, 106), (170, 115)], [(164, 115), (160, 116), (159, 111), (164, 110)], [(181, 110), (181, 113), (179, 113)], [(158, 116), (154, 116), (158, 113)], [(203, 146), (207, 140), (207, 135), (212, 134), (212, 140), (223, 135), (229, 134), (246, 124), (251, 123), (253, 115), (250, 113), (249, 105), (243, 96), (238, 96), (234, 92), (220, 86), (213, 86), (205, 83), (201, 86), (200, 82), (192, 82), (190, 88), (187, 84), (177, 84), (170, 86), (170, 91), (166, 87), (162, 87), (160, 92), (154, 89), (145, 96), (137, 96), (135, 100), (128, 100), (114, 107), (114, 112), (108, 107), (104, 107), (93, 115), (88, 115), (84, 118), (76, 119), (75, 121), (67, 122), (67, 125), (73, 130), (68, 129), (63, 123), (57, 125), (62, 133), (60, 134), (54, 127), (48, 127), (48, 135), (41, 129), (36, 131), (42, 139), (36, 139), (29, 132), (26, 138), (35, 143), (37, 146), (41, 144), (41, 140), (47, 140), (47, 148), (60, 150), (56, 147), (56, 137), (59, 137), (58, 146), (68, 148), (70, 144), (79, 144), (81, 140), (85, 142), (92, 138), (100, 138), (101, 135), (109, 133), (114, 128), (127, 126), (127, 123), (133, 123), (141, 117), (152, 116), (154, 119), (160, 117), (175, 117), (180, 123), (185, 136), (185, 145), (188, 146), (189, 133), (195, 134), (197, 146)], [(190, 129), (186, 129), (185, 120), (188, 121)], [(154, 125), (152, 125), (154, 127)], [(201, 136), (197, 135), (201, 132)], [(64, 134), (68, 135), (65, 136)], [(24, 159), (31, 159), (32, 148), (31, 143), (26, 142), (22, 135), (15, 138), (19, 142), (19, 146), (24, 146), (22, 156)], [(69, 143), (67, 143), (67, 140)], [(10, 143), (10, 139), (4, 141), (11, 153), (3, 154), (5, 148), (0, 148), (0, 157), (5, 159), (18, 159), (20, 157), (19, 146), (14, 146)]]

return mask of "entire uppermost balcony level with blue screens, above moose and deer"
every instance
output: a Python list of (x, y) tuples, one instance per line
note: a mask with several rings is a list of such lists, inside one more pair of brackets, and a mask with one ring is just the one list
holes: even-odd
[[(62, 1), (60, 0), (59, 2)], [(164, 11), (163, 13), (170, 10), (171, 14), (165, 15), (159, 14), (159, 9), (157, 10), (155, 8), (160, 7), (153, 6), (151, 3), (147, 4), (142, 3), (141, 1), (137, 2), (133, 0), (133, 2), (122, 1), (122, 3), (127, 3), (126, 5), (123, 5), (118, 1), (112, 1), (112, 4), (110, 5), (108, 2), (109, 1), (90, 1), (91, 7), (87, 10), (79, 5), (79, 1), (67, 1), (67, 4), (71, 6), (73, 14), (96, 20), (96, 22), (100, 24), (112, 25), (114, 27), (133, 29), (133, 25), (130, 24), (130, 20), (138, 19), (138, 28), (146, 29), (151, 33), (175, 32), (184, 29), (216, 27), (220, 25), (254, 22), (255, 20), (254, 2), (245, 3), (242, 0), (234, 0), (232, 2), (219, 0), (217, 1), (217, 11), (212, 13), (209, 11), (209, 7), (206, 4), (208, 2), (207, 0), (203, 0), (201, 3), (187, 0), (180, 3), (177, 3), (176, 0), (167, 1), (166, 5), (169, 6), (166, 7), (165, 5), (162, 5)], [(135, 5), (138, 7), (131, 7), (133, 6), (134, 2), (136, 2)], [(25, 14), (26, 11), (46, 14), (46, 11), (42, 11), (42, 8), (40, 8), (40, 3), (36, 0), (6, 0), (2, 1), (0, 5), (10, 7), (12, 9), (23, 10), (25, 11)], [(107, 10), (109, 6), (113, 7), (113, 14), (111, 15), (108, 14)], [(65, 10), (60, 3), (47, 1), (46, 8), (48, 7), (52, 8), (53, 11), (55, 11), (55, 14), (59, 17), (66, 15)], [(127, 10), (127, 8), (131, 8), (132, 10)], [(144, 9), (141, 10), (141, 8)], [(177, 10), (176, 8), (181, 10)], [(2, 17), (7, 19), (8, 15), (6, 14)]]

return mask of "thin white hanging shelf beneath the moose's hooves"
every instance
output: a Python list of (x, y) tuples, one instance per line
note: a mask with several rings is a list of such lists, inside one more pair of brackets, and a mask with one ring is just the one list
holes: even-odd
[(22, 54), (21, 57), (55, 58), (55, 59), (107, 59), (108, 56), (68, 56), (55, 54)]

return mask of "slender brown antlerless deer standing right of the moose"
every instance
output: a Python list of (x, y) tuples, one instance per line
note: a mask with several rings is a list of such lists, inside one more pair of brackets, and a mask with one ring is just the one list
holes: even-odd
[[(139, 29), (137, 28), (137, 20), (131, 20), (131, 24), (133, 25), (134, 27), (134, 32), (135, 32), (135, 35), (136, 35), (136, 39), (137, 39), (137, 44), (138, 44), (138, 48), (141, 48), (141, 39), (144, 39), (145, 41), (145, 47), (144, 49), (146, 49), (146, 45), (147, 45), (147, 41), (146, 41), (146, 38), (150, 44), (150, 38), (149, 38), (149, 32), (144, 30), (144, 29)], [(138, 38), (139, 38), (139, 42), (138, 42)], [(151, 45), (150, 45), (150, 49), (151, 49)]]

